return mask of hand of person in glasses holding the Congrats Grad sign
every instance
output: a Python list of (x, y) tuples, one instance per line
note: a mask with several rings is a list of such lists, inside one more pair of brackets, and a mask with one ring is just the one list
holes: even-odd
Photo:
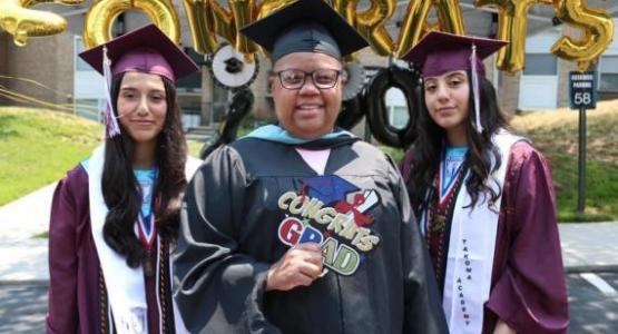
[(322, 247), (314, 243), (298, 244), (271, 266), (266, 276), (266, 291), (310, 286), (321, 273)]

